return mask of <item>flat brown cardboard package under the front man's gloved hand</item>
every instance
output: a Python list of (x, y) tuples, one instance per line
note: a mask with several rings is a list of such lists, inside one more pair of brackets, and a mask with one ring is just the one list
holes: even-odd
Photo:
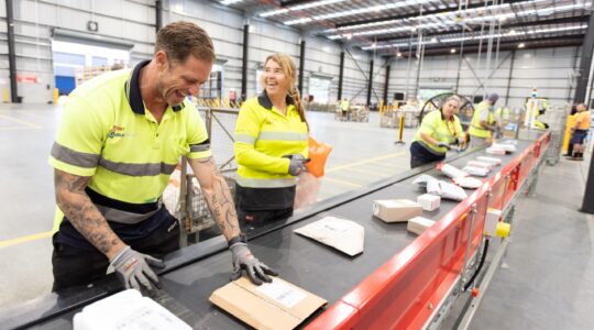
[(328, 301), (286, 280), (256, 286), (246, 277), (216, 289), (209, 298), (255, 329), (295, 329)]

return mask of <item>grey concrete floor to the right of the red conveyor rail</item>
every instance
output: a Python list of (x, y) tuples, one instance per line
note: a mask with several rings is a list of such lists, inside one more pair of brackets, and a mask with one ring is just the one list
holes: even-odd
[(521, 198), (512, 244), (471, 329), (594, 329), (594, 216), (578, 211), (584, 162), (544, 166)]

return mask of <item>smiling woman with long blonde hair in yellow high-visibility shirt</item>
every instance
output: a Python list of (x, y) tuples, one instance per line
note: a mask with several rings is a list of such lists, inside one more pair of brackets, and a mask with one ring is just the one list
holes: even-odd
[(235, 124), (235, 206), (240, 224), (255, 229), (293, 215), (297, 176), (307, 170), (308, 124), (286, 54), (264, 62), (264, 90), (241, 107)]

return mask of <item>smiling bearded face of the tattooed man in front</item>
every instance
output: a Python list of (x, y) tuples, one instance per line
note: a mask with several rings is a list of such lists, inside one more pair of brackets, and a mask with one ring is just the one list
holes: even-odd
[(157, 52), (155, 57), (158, 68), (157, 92), (172, 107), (182, 103), (187, 96), (198, 96), (200, 86), (212, 69), (211, 63), (194, 55), (189, 55), (182, 63), (169, 59), (162, 51)]

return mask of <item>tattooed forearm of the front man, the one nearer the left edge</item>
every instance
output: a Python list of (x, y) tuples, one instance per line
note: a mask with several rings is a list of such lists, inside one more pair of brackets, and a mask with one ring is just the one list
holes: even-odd
[(111, 230), (103, 216), (85, 193), (89, 179), (90, 177), (76, 176), (55, 169), (56, 204), (74, 228), (95, 248), (111, 258), (123, 248), (123, 242)]

